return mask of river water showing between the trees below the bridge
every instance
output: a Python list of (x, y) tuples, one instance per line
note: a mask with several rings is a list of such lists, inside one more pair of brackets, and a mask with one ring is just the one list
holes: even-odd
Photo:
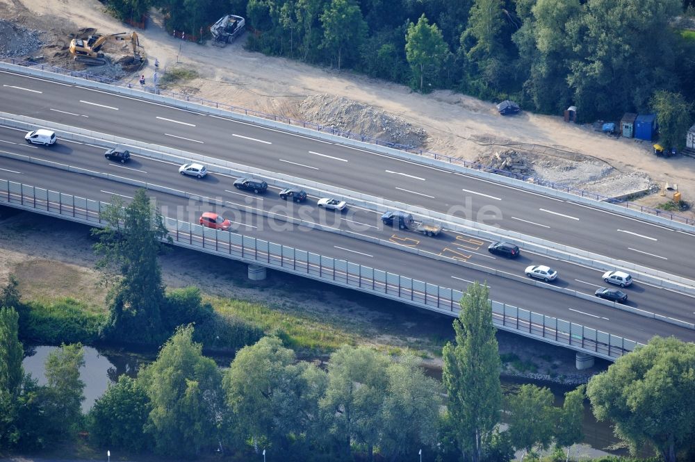
[[(40, 384), (46, 383), (44, 363), (46, 362), (49, 352), (54, 349), (56, 349), (56, 347), (25, 347), (25, 354), (28, 356), (24, 358), (22, 363), (24, 365), (24, 371), (31, 373), (35, 379), (38, 379)], [(80, 370), (80, 377), (85, 383), (85, 400), (82, 404), (82, 410), (85, 413), (91, 409), (95, 400), (104, 393), (108, 383), (117, 381), (121, 374), (128, 374), (131, 377), (136, 377), (142, 365), (152, 363), (152, 361), (156, 359), (156, 351), (133, 353), (116, 349), (95, 349), (92, 347), (85, 347), (84, 351), (85, 367)], [(215, 358), (215, 361), (217, 361), (220, 366), (225, 367), (229, 365), (231, 358)], [(432, 375), (436, 375), (436, 373)], [(437, 378), (441, 379), (441, 372), (439, 375), (440, 377)], [(555, 404), (558, 406), (562, 406), (564, 393), (573, 389), (573, 387), (560, 386), (555, 383), (539, 383), (529, 381), (528, 379), (522, 380), (506, 377), (502, 378), (502, 389), (505, 394), (513, 393), (524, 383), (536, 383), (539, 386), (547, 386), (550, 388), (550, 390), (553, 391), (553, 395), (555, 395)], [(596, 421), (588, 403), (584, 404), (583, 427), (584, 444), (594, 449), (605, 451), (606, 447), (617, 443), (610, 425), (606, 422)], [(614, 453), (623, 454), (622, 451)]]

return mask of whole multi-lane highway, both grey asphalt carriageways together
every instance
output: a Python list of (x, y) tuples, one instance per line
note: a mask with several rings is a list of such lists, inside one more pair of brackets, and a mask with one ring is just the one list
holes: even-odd
[[(315, 195), (306, 204), (281, 201), (273, 188), (255, 196), (235, 190), (236, 176), (215, 172), (213, 165), (212, 173), (203, 179), (182, 177), (177, 171), (179, 162), (151, 158), (146, 150), (142, 156), (134, 154), (126, 165), (110, 163), (104, 159), (103, 147), (113, 146), (113, 142), (104, 139), (95, 138), (91, 143), (60, 139), (53, 147), (35, 147), (24, 144), (23, 131), (2, 127), (2, 179), (96, 201), (110, 201), (113, 195), (127, 199), (133, 194), (133, 183), (152, 183), (159, 188), (151, 196), (163, 213), (181, 222), (197, 223), (201, 212), (215, 211), (232, 220), (234, 231), (244, 236), (445, 288), (465, 289), (472, 281), (486, 281), (496, 302), (638, 343), (646, 343), (654, 335), (695, 339), (690, 290), (695, 286), (690, 283), (695, 268), (689, 263), (692, 252), (683, 251), (693, 248), (695, 233), (689, 226), (669, 226), (664, 220), (634, 213), (622, 215), (603, 204), (543, 195), (538, 188), (498, 183), (475, 172), (451, 170), (448, 165), (418, 163), (369, 145), (341, 145), (318, 133), (289, 133), (278, 126), (213, 114), (206, 108), (181, 108), (176, 101), (147, 101), (108, 92), (103, 85), (76, 85), (50, 77), (26, 76), (17, 69), (0, 72), (0, 111), (41, 119), (47, 128), (88, 128), (133, 144), (202, 154), (222, 165), (234, 163), (242, 166), (242, 172), (247, 167), (248, 172), (283, 174), (298, 185), (329, 184), (359, 192), (361, 199), (361, 195), (384, 198), (409, 204), (414, 210), (483, 221), (498, 227), (502, 235), (521, 233), (548, 242), (550, 247), (569, 246), (600, 254), (607, 260), (638, 265), (652, 275), (667, 274), (666, 279), (673, 277), (681, 286), (660, 288), (653, 276), (640, 278), (633, 273), (636, 281), (625, 290), (630, 311), (623, 311), (592, 297), (605, 283), (600, 279), (603, 271), (590, 265), (551, 259), (528, 251), (523, 244), (520, 258), (498, 258), (486, 251), (489, 240), (446, 223), (438, 238), (384, 227), (380, 213), (357, 198), (347, 213), (325, 211), (316, 207), (320, 193), (316, 189), (307, 188)], [(56, 171), (58, 164), (110, 176)], [(523, 269), (531, 264), (553, 266), (559, 280), (528, 284)], [(636, 313), (654, 313), (657, 319)]]

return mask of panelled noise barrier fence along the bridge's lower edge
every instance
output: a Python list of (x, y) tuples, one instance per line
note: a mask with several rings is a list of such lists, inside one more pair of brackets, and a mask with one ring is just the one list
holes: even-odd
[[(100, 211), (108, 205), (3, 179), (0, 179), (0, 204), (92, 226), (104, 226)], [(459, 301), (463, 296), (460, 290), (173, 218), (165, 218), (165, 226), (174, 244), (180, 247), (361, 290), (454, 317), (459, 315)], [(498, 329), (609, 361), (639, 345), (633, 340), (500, 302), (492, 301), (492, 311), (493, 323)]]

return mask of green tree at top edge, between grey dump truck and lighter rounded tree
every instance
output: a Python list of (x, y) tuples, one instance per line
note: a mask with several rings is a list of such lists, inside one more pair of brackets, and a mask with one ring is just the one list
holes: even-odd
[(323, 25), (321, 47), (334, 53), (340, 71), (343, 58), (357, 56), (367, 35), (367, 23), (356, 0), (332, 0), (323, 10), (320, 20)]

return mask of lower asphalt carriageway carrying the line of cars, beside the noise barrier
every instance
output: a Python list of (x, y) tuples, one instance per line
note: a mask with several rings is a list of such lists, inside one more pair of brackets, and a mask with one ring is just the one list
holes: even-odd
[[(370, 211), (363, 211), (354, 207), (343, 214), (325, 211), (316, 207), (316, 198), (314, 197), (309, 197), (305, 204), (292, 204), (279, 199), (277, 190), (272, 189), (269, 189), (267, 194), (262, 197), (257, 197), (252, 193), (235, 190), (232, 185), (234, 178), (229, 176), (208, 174), (204, 179), (183, 177), (178, 174), (177, 165), (140, 156), (133, 156), (133, 160), (126, 165), (111, 163), (104, 158), (104, 149), (79, 143), (59, 142), (48, 148), (26, 145), (23, 142), (22, 133), (11, 129), (0, 129), (0, 145), (2, 145), (3, 151), (47, 158), (90, 170), (150, 181), (199, 194), (201, 197), (215, 197), (224, 201), (224, 206), (211, 206), (206, 199), (188, 200), (161, 192), (149, 192), (165, 215), (176, 217), (179, 220), (197, 222), (197, 217), (202, 211), (215, 211), (233, 220), (235, 231), (249, 236), (325, 256), (344, 258), (353, 263), (459, 290), (465, 290), (468, 283), (472, 281), (484, 280), (491, 288), (491, 298), (499, 302), (559, 317), (641, 343), (646, 343), (654, 335), (674, 335), (682, 340), (695, 340), (695, 331), (690, 329), (639, 317), (591, 300), (578, 299), (552, 290), (529, 286), (514, 279), (482, 274), (475, 270), (475, 267), (436, 261), (432, 258), (416, 256), (399, 249), (348, 238), (328, 231), (297, 227), (288, 224), (281, 215), (295, 215), (301, 217), (302, 220), (313, 220), (334, 227), (347, 226), (349, 228), (354, 226), (354, 222), (358, 222), (361, 224), (359, 231), (365, 236), (391, 240), (391, 242), (401, 245), (416, 245), (420, 249), (435, 253), (441, 253), (444, 249), (456, 245), (458, 251), (461, 253), (466, 251), (466, 255), (470, 255), (469, 262), (497, 267), (510, 274), (518, 275), (520, 279), (524, 278), (523, 267), (525, 265), (547, 263), (546, 261), (539, 262), (541, 257), (527, 252), (523, 252), (521, 258), (516, 261), (509, 261), (487, 254), (486, 245), (488, 242), (481, 242), (451, 231), (445, 231), (440, 238), (426, 238), (408, 231), (384, 229), (384, 226), (380, 226), (378, 216)], [(127, 200), (132, 197), (135, 190), (131, 185), (8, 158), (0, 158), (0, 177), (101, 201), (111, 201), (113, 195), (120, 195)], [(211, 191), (215, 194), (210, 194)], [(257, 213), (241, 212), (238, 210), (239, 205), (262, 208), (267, 212), (277, 214), (275, 216), (279, 216), (279, 219), (268, 219)], [(352, 220), (353, 224), (347, 220)], [(418, 243), (414, 244), (408, 240), (417, 240)], [(596, 270), (561, 261), (553, 262), (553, 266), (557, 267), (561, 278), (555, 283), (557, 285), (581, 290), (582, 282), (580, 281), (583, 281), (584, 287), (588, 286), (589, 290), (582, 291), (587, 293), (594, 291), (594, 285), (603, 285), (600, 274)], [(630, 304), (635, 307), (649, 311), (658, 310), (661, 314), (688, 322), (695, 320), (695, 313), (692, 312), (692, 309), (684, 310), (684, 306), (692, 308), (692, 297), (647, 286), (639, 281), (633, 283), (630, 288), (626, 288), (626, 292), (630, 297)]]

